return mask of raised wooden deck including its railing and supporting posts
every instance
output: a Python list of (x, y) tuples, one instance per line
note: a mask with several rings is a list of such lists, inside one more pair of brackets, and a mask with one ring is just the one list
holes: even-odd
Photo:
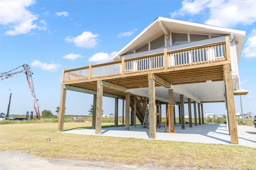
[[(94, 94), (94, 106), (96, 106), (96, 110), (93, 114), (92, 127), (95, 127), (96, 135), (101, 134), (102, 97), (107, 96), (116, 98), (115, 110), (117, 110), (118, 99), (123, 99), (124, 112), (124, 100), (126, 101), (126, 130), (130, 130), (130, 107), (135, 110), (135, 116), (138, 114), (142, 118), (144, 115), (140, 113), (140, 110), (145, 110), (144, 105), (148, 105), (149, 134), (151, 139), (155, 139), (155, 108), (157, 100), (155, 87), (164, 86), (168, 88), (168, 104), (172, 105), (174, 102), (178, 102), (174, 101), (172, 85), (195, 84), (206, 81), (223, 81), (231, 143), (238, 144), (230, 60), (230, 40), (228, 36), (225, 38), (225, 41), (219, 43), (179, 49), (177, 51), (167, 51), (167, 49), (164, 49), (163, 53), (154, 55), (132, 59), (122, 57), (120, 61), (97, 65), (90, 64), (86, 67), (71, 70), (63, 69), (58, 131), (63, 131), (66, 90), (73, 90)], [(128, 91), (128, 89), (139, 88), (148, 88), (148, 96), (143, 99), (142, 109), (137, 107), (137, 103), (141, 105), (140, 102), (134, 102), (136, 100), (132, 101), (132, 98), (136, 99), (138, 94)], [(184, 94), (179, 95), (180, 118), (182, 120), (182, 129), (184, 129)], [(189, 99), (188, 102), (190, 105), (191, 100)], [(195, 103), (196, 101), (194, 101), (194, 105)], [(202, 103), (199, 101), (198, 108), (200, 104), (202, 106)], [(174, 112), (172, 111), (170, 114), (172, 117), (171, 125), (174, 128)], [(200, 114), (199, 110), (198, 114)], [(116, 111), (115, 115), (116, 117), (118, 116)], [(115, 125), (117, 125), (117, 119), (115, 119)]]

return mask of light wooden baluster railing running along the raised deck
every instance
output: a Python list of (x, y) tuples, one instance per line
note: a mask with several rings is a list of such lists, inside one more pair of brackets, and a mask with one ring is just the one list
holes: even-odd
[(225, 42), (64, 70), (64, 82), (226, 60)]

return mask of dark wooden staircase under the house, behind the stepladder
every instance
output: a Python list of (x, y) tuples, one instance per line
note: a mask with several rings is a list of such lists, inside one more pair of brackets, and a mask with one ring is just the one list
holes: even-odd
[(140, 123), (143, 124), (144, 121), (144, 114), (146, 109), (142, 107), (142, 98), (139, 96), (136, 96), (136, 98), (131, 98), (130, 99), (130, 107), (132, 110), (134, 110), (134, 103), (136, 102), (136, 117), (139, 119)]

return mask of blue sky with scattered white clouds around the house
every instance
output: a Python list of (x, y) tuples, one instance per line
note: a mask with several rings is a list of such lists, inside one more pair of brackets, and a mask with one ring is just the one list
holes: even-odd
[[(242, 103), (244, 113), (256, 113), (255, 9), (254, 0), (1, 0), (0, 72), (28, 64), (40, 112), (56, 114), (62, 68), (111, 61), (158, 16), (206, 23), (246, 31), (238, 67), (241, 88), (250, 92), (242, 96)], [(25, 74), (0, 82), (0, 112), (7, 112), (10, 92), (10, 114), (34, 111)], [(88, 115), (92, 103), (93, 95), (67, 91), (66, 114)], [(240, 96), (235, 96), (235, 105), (241, 112)], [(114, 113), (114, 99), (103, 98), (103, 110)], [(204, 104), (204, 112), (224, 114), (225, 104)]]

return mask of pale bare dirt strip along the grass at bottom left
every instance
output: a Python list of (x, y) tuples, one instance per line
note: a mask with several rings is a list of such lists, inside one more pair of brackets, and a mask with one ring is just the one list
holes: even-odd
[[(148, 170), (150, 167), (136, 165), (113, 164), (109, 162), (89, 162), (66, 159), (42, 158), (21, 153), (20, 151), (0, 151), (1, 170)], [(158, 168), (159, 169), (159, 168)]]

